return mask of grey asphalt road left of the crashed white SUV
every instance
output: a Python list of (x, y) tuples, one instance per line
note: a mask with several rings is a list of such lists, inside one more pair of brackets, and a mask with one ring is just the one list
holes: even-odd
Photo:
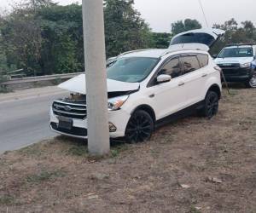
[(67, 94), (57, 87), (0, 94), (0, 153), (55, 136), (49, 130), (49, 106)]

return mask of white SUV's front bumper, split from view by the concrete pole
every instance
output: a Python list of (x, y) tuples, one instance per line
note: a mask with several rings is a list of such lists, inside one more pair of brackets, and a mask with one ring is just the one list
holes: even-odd
[[(49, 117), (50, 117), (50, 123), (49, 128), (50, 130), (55, 131), (58, 134), (61, 135), (68, 135), (76, 138), (83, 138), (87, 139), (87, 118), (85, 119), (76, 119), (72, 118), (73, 120), (73, 126), (71, 130), (62, 129), (59, 128), (59, 118), (52, 110), (52, 107), (50, 107), (49, 111)], [(119, 109), (117, 111), (109, 111), (108, 112), (108, 121), (109, 124), (114, 125), (116, 127), (115, 131), (110, 131), (109, 136), (111, 138), (118, 138), (125, 136), (125, 129), (126, 125), (131, 118), (131, 114), (128, 112), (125, 112), (125, 110)]]

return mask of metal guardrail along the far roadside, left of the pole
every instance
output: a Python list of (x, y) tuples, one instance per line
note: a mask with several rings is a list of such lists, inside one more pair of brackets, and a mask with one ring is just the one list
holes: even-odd
[(84, 72), (74, 72), (74, 73), (27, 77), (27, 78), (13, 78), (7, 82), (0, 83), (0, 85), (7, 86), (7, 85), (12, 85), (12, 84), (17, 84), (17, 83), (34, 83), (34, 82), (50, 81), (50, 80), (55, 80), (55, 79), (68, 79), (68, 78), (73, 78), (82, 73), (84, 73)]

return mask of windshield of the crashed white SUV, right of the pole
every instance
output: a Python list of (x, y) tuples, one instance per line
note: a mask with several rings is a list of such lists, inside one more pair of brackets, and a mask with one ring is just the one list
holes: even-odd
[(148, 77), (157, 62), (157, 58), (121, 58), (113, 66), (108, 67), (107, 77), (122, 82), (142, 82), (144, 78)]

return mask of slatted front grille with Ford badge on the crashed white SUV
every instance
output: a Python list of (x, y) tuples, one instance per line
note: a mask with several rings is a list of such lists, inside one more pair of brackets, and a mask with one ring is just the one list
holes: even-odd
[(87, 116), (85, 104), (54, 101), (52, 109), (55, 115), (63, 116), (66, 118), (84, 119)]

